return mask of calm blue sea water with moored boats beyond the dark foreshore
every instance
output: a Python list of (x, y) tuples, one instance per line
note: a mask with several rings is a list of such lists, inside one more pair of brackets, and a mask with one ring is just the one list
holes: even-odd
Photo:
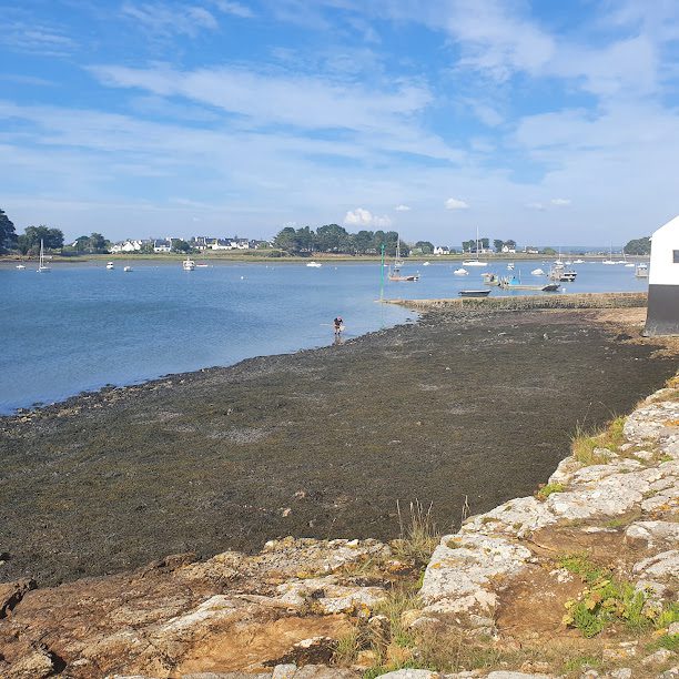
[[(375, 263), (215, 264), (193, 272), (180, 263), (131, 264), (129, 273), (123, 263), (113, 271), (103, 262), (53, 264), (40, 275), (34, 264), (23, 271), (0, 266), (0, 413), (107, 384), (327, 345), (337, 314), (346, 338), (413, 317), (375, 303), (381, 286)], [(482, 287), (482, 270), (458, 278), (453, 275), (458, 266), (449, 261), (406, 265), (404, 273), (419, 271), (420, 281), (385, 281), (384, 296), (454, 297), (459, 290)], [(515, 273), (520, 268), (524, 282), (534, 282), (529, 272), (537, 266), (548, 268), (531, 262)], [(634, 268), (589, 263), (576, 268), (578, 280), (566, 292), (647, 288)], [(504, 266), (495, 271), (506, 273)]]

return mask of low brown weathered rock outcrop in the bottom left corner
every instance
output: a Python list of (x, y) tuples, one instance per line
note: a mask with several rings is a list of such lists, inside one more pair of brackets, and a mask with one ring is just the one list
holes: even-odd
[[(176, 677), (266, 671), (278, 660), (327, 663), (346, 616), (365, 615), (384, 596), (388, 578), (368, 586), (361, 577), (368, 560), (388, 572), (389, 548), (290, 538), (255, 556), (175, 556), (132, 574), (28, 591), (0, 625), (0, 676), (47, 677), (68, 667), (69, 677)], [(285, 672), (276, 676), (311, 676)]]

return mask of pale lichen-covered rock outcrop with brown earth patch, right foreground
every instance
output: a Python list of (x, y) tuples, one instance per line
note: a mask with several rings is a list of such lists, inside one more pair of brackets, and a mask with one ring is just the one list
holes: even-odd
[[(574, 588), (571, 574), (555, 567), (555, 559), (578, 553), (611, 563), (617, 575), (648, 592), (649, 605), (676, 601), (678, 396), (677, 389), (662, 389), (641, 404), (626, 419), (624, 443), (595, 449), (606, 464), (586, 466), (569, 457), (550, 477), (547, 497), (510, 500), (445, 536), (427, 566), (425, 606), (414, 624), (499, 639), (513, 634), (509, 627), (526, 626), (521, 616), (551, 606), (558, 625), (554, 600), (563, 604), (582, 586)], [(637, 645), (634, 649), (637, 653)], [(662, 665), (677, 663), (676, 652), (660, 650), (634, 676), (660, 676)], [(622, 651), (614, 645), (604, 656), (619, 661)], [(652, 673), (650, 667), (660, 669)], [(631, 669), (625, 676), (631, 677)]]

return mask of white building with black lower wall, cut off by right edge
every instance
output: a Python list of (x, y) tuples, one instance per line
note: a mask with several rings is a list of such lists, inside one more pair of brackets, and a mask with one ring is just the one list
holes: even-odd
[(679, 335), (679, 216), (651, 236), (646, 335)]

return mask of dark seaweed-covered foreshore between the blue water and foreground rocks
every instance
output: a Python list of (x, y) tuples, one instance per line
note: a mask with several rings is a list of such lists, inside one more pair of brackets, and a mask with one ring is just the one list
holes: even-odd
[(341, 345), (0, 418), (0, 581), (120, 571), (273, 537), (440, 530), (533, 493), (578, 425), (626, 413), (676, 356), (639, 310), (442, 311)]

